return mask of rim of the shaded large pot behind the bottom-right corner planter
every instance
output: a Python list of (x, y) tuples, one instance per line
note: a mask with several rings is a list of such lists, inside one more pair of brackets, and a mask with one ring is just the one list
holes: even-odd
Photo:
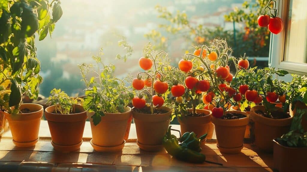
[[(270, 126), (287, 126), (291, 125), (293, 116), (291, 115), (290, 118), (285, 119), (272, 119), (272, 118), (266, 118), (262, 115), (259, 115), (255, 112), (255, 110), (264, 110), (264, 106), (255, 106), (251, 108), (251, 119), (260, 123), (263, 123), (265, 125)], [(280, 108), (282, 110), (282, 108)]]

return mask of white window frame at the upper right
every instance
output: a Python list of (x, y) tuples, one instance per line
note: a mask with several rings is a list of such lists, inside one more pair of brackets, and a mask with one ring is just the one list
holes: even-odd
[(276, 69), (284, 69), (289, 73), (296, 73), (300, 75), (307, 74), (306, 63), (296, 63), (283, 61), (286, 50), (286, 34), (288, 29), (288, 5), (289, 0), (279, 0), (278, 13), (282, 19), (284, 26), (282, 32), (278, 35), (272, 34), (270, 36), (270, 53), (269, 53), (269, 67), (275, 67)]

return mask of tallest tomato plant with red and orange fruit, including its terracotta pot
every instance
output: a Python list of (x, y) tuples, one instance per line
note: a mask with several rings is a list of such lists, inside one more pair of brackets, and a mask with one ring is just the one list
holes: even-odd
[[(233, 80), (233, 75), (227, 65), (232, 50), (227, 46), (225, 40), (214, 39), (210, 45), (201, 46), (200, 54), (204, 51), (208, 52), (208, 58), (204, 55), (197, 56), (197, 54), (185, 54), (185, 58), (193, 57), (195, 63), (199, 62), (202, 65), (204, 70), (199, 71), (200, 80), (204, 80), (205, 85), (208, 80), (210, 88), (200, 85), (197, 78), (191, 82), (192, 84), (187, 82), (187, 79), (194, 77), (196, 72), (193, 73), (193, 71), (191, 76), (185, 79), (185, 84), (189, 89), (192, 89), (192, 92), (196, 93), (201, 93), (200, 88), (206, 88), (202, 100), (206, 104), (204, 108), (212, 111), (212, 122), (215, 125), (218, 148), (222, 153), (239, 153), (243, 148), (243, 138), (249, 115), (246, 112), (229, 110), (231, 104), (234, 104), (233, 96), (236, 93), (236, 90), (231, 88), (229, 84)], [(212, 58), (211, 54), (215, 54), (215, 57)], [(237, 70), (235, 76), (240, 71), (241, 69)], [(194, 97), (192, 96), (192, 98)]]

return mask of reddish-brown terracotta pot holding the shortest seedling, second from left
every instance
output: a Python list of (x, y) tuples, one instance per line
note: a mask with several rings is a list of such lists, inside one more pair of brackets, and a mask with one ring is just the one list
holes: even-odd
[(75, 114), (55, 114), (54, 105), (45, 109), (51, 134), (51, 144), (55, 150), (69, 152), (76, 151), (82, 144), (82, 136), (86, 121), (86, 111), (75, 104)]

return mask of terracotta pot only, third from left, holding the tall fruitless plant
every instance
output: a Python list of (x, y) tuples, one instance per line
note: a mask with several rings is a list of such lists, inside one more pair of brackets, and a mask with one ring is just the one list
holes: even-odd
[(91, 116), (94, 112), (87, 112), (91, 122), (93, 139), (90, 141), (95, 151), (120, 151), (125, 145), (127, 123), (132, 116), (131, 108), (125, 107), (124, 113), (104, 113), (98, 125), (94, 125)]

